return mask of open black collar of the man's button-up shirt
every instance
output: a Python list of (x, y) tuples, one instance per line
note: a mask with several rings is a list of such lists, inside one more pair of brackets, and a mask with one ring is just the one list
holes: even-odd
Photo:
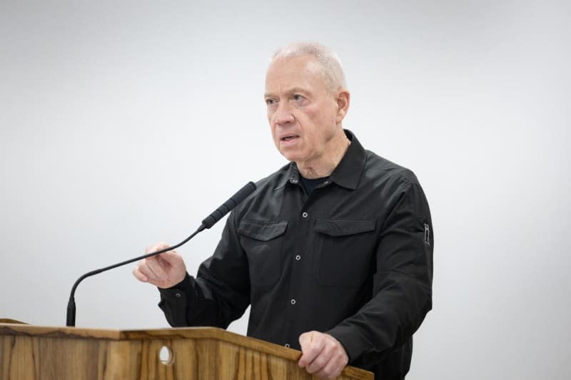
[[(343, 155), (340, 163), (333, 170), (333, 173), (329, 175), (329, 180), (342, 186), (343, 188), (355, 190), (359, 184), (359, 179), (361, 177), (361, 173), (363, 173), (363, 168), (365, 168), (367, 153), (353, 132), (347, 129), (344, 131), (345, 135), (351, 143), (349, 148), (347, 148), (345, 155)], [(285, 184), (288, 182), (297, 185), (300, 181), (299, 176), (300, 174), (298, 165), (295, 165), (295, 163), (290, 163), (288, 173), (283, 176), (275, 190), (283, 188), (283, 186), (285, 186)]]

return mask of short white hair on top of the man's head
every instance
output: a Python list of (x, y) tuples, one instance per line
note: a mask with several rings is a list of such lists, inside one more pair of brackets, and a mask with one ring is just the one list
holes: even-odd
[(316, 42), (296, 42), (279, 48), (273, 54), (272, 62), (279, 58), (313, 56), (325, 78), (325, 86), (333, 93), (347, 88), (341, 60), (335, 51)]

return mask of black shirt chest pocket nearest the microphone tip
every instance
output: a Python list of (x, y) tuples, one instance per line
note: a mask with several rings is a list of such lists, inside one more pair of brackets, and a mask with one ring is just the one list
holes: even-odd
[(283, 234), (288, 222), (242, 220), (238, 226), (240, 243), (248, 257), (250, 282), (253, 287), (268, 289), (281, 274)]

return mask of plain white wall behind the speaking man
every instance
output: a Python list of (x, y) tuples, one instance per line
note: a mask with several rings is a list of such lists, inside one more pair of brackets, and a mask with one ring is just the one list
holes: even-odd
[[(345, 65), (345, 126), (432, 207), (408, 379), (570, 378), (570, 25), (567, 1), (1, 1), (0, 317), (64, 325), (79, 275), (283, 165), (266, 64), (317, 40)], [(191, 272), (221, 227), (181, 250)], [(79, 327), (166, 326), (131, 266), (76, 301)]]

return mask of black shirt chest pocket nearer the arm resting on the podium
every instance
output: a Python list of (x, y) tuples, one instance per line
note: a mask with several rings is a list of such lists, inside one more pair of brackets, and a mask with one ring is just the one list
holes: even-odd
[(373, 272), (375, 220), (315, 220), (313, 274), (328, 287), (358, 287)]

